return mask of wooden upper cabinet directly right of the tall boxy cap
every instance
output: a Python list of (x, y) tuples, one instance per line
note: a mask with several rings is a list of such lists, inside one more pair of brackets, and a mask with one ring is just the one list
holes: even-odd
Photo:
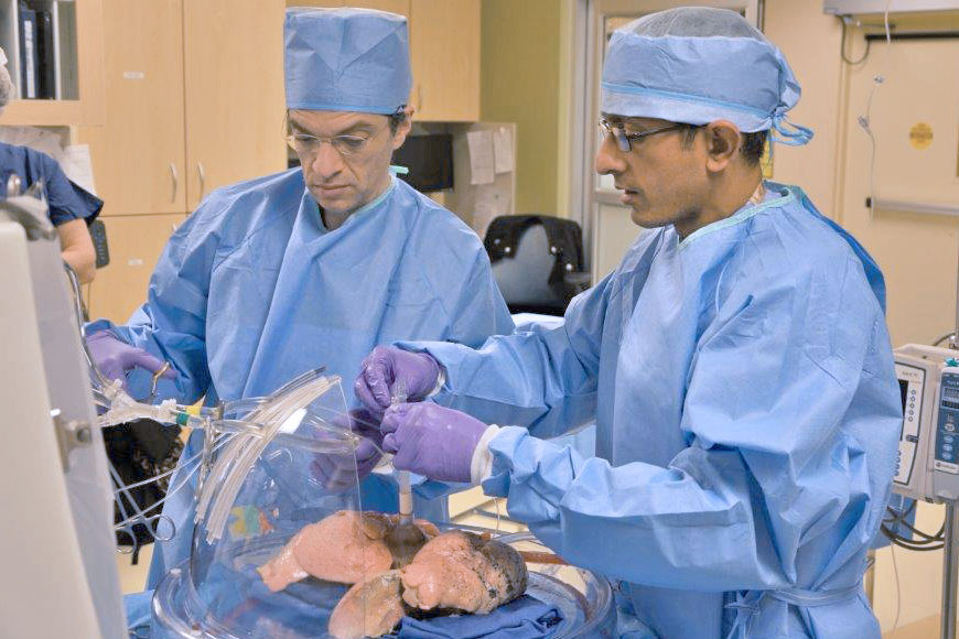
[(421, 122), (480, 119), (480, 0), (287, 0), (289, 7), (363, 7), (409, 18), (413, 87)]

